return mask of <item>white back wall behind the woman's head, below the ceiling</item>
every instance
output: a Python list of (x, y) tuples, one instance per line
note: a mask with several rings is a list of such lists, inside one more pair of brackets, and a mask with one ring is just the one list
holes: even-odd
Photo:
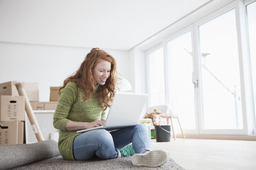
[[(39, 82), (39, 101), (49, 101), (50, 86), (78, 69), (90, 49), (0, 42), (0, 83)], [(118, 64), (118, 73), (132, 80), (128, 51), (107, 50)], [(133, 83), (132, 83), (133, 84)]]

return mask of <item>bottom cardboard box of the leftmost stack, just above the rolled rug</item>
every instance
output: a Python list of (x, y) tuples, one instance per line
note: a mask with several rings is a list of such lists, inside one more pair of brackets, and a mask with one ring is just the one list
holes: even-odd
[(0, 122), (0, 145), (22, 144), (24, 123), (21, 121)]

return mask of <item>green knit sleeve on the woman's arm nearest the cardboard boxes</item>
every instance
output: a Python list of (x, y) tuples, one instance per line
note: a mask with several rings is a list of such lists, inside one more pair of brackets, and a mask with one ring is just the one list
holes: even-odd
[(70, 108), (76, 101), (77, 88), (74, 82), (68, 82), (65, 88), (61, 90), (61, 96), (58, 100), (58, 106), (54, 113), (54, 127), (59, 130), (65, 130), (69, 119), (67, 116)]

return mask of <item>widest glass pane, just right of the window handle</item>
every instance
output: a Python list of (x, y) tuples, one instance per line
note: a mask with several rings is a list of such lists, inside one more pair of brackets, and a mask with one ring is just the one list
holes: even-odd
[(242, 128), (235, 10), (200, 26), (204, 129)]

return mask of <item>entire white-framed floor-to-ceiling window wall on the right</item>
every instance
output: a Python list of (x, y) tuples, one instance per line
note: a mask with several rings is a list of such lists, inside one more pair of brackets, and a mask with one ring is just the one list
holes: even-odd
[(256, 1), (225, 4), (184, 27), (178, 21), (147, 50), (149, 106), (169, 104), (185, 133), (251, 134), (252, 121), (256, 129)]

